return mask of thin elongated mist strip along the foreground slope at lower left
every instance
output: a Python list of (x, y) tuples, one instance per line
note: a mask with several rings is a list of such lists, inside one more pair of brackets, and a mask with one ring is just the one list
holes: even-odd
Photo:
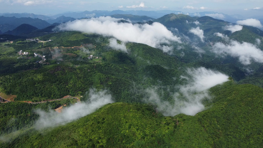
[(39, 118), (35, 123), (35, 128), (41, 130), (47, 127), (63, 125), (86, 116), (106, 104), (113, 103), (112, 96), (107, 91), (96, 92), (92, 89), (89, 92), (89, 101), (81, 102), (64, 108), (61, 113), (50, 110), (48, 112), (36, 110)]

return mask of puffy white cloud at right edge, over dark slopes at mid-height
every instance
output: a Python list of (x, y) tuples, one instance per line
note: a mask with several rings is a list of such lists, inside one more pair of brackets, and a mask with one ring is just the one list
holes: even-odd
[(251, 61), (263, 63), (263, 51), (255, 45), (247, 42), (239, 43), (235, 40), (227, 45), (221, 42), (215, 43), (213, 51), (220, 55), (237, 57), (243, 65), (251, 64)]

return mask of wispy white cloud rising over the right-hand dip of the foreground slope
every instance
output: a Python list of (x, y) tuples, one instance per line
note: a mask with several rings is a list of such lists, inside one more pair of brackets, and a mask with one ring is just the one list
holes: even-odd
[(186, 77), (188, 84), (179, 86), (179, 92), (173, 94), (174, 103), (163, 101), (156, 93), (157, 88), (146, 90), (148, 97), (146, 102), (157, 105), (157, 110), (165, 116), (175, 116), (180, 113), (195, 115), (205, 109), (202, 101), (209, 99), (208, 89), (228, 81), (228, 76), (216, 71), (205, 69), (188, 69), (189, 77)]

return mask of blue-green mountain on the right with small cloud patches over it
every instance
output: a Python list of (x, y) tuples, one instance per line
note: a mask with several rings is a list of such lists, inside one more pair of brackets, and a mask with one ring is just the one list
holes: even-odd
[[(255, 44), (256, 40), (259, 40), (259, 38), (263, 37), (262, 31), (260, 29), (251, 26), (242, 26), (242, 28), (231, 33), (226, 28), (235, 28), (238, 26), (223, 20), (214, 19), (209, 16), (190, 17), (183, 14), (165, 15), (156, 19), (155, 21), (162, 23), (175, 35), (181, 37), (181, 39), (185, 42), (188, 42), (180, 50), (174, 50), (174, 54), (177, 57), (180, 57), (180, 59), (184, 62), (195, 61), (195, 63), (199, 63), (201, 66), (206, 68), (221, 69), (224, 72), (231, 71), (228, 74), (237, 81), (244, 79), (246, 75), (253, 75), (252, 73), (248, 72), (246, 68), (244, 68), (246, 66), (238, 62), (236, 57), (225, 57), (222, 56), (222, 54), (216, 54), (214, 52), (215, 48), (213, 47), (213, 44), (223, 42), (225, 47), (227, 47), (228, 42), (233, 43), (234, 41), (238, 41), (237, 45), (241, 44), (242, 42), (246, 42), (254, 44), (256, 47), (258, 46)], [(191, 33), (190, 31), (193, 31), (195, 34)], [(219, 34), (225, 38), (217, 36)], [(227, 37), (229, 38), (227, 39)], [(180, 46), (182, 47), (182, 45)], [(261, 46), (259, 49), (262, 50)], [(184, 56), (181, 56), (182, 53)], [(204, 59), (207, 61), (204, 62)], [(252, 64), (253, 66), (251, 65), (250, 68), (253, 67), (252, 69), (256, 74), (260, 64), (254, 64)], [(233, 69), (234, 71), (232, 71)]]

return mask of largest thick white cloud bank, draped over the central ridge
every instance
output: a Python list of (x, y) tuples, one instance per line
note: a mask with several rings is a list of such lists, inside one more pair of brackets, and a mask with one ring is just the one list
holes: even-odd
[(118, 23), (119, 19), (112, 17), (99, 17), (92, 19), (75, 20), (58, 26), (62, 31), (80, 31), (114, 37), (122, 42), (137, 42), (167, 51), (162, 43), (170, 44), (171, 41), (180, 42), (165, 26), (154, 22), (149, 24)]

